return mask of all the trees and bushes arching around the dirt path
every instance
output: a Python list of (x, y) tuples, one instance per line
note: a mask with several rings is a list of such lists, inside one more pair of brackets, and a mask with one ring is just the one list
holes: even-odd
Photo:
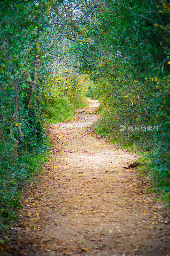
[(147, 153), (153, 188), (168, 198), (169, 8), (166, 0), (1, 3), (0, 231), (46, 158), (45, 122), (73, 118), (85, 96), (101, 102), (97, 132)]

